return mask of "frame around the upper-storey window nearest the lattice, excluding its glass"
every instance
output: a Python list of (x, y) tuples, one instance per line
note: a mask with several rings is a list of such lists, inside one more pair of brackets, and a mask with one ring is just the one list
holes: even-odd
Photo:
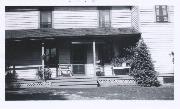
[[(101, 6), (101, 7), (98, 7), (98, 14), (99, 14), (99, 27), (100, 28), (110, 28), (111, 27), (111, 9), (112, 7), (110, 6)], [(108, 26), (105, 25), (105, 21), (104, 21), (104, 25), (102, 24), (102, 12), (103, 11), (107, 11), (108, 12), (108, 16), (109, 16), (109, 21), (108, 21)], [(103, 14), (103, 17), (104, 17), (104, 14)]]

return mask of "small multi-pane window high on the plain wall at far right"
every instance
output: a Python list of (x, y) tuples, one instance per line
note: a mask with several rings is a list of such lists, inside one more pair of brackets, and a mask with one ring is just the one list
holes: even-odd
[(168, 10), (166, 5), (155, 6), (156, 22), (168, 22)]

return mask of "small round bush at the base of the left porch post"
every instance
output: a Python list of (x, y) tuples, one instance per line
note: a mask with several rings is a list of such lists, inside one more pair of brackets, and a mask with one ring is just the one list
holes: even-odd
[[(44, 73), (44, 74), (43, 74)], [(43, 78), (43, 75), (44, 75), (44, 78)], [(51, 79), (51, 75), (52, 75), (52, 72), (49, 68), (44, 68), (44, 72), (43, 72), (43, 68), (39, 68), (37, 73), (36, 73), (36, 76), (40, 79), (40, 80), (48, 80), (48, 79)]]

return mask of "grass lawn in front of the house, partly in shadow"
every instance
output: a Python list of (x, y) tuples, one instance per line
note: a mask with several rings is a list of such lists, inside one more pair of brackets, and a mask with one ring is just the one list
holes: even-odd
[(6, 90), (6, 100), (173, 100), (174, 86)]

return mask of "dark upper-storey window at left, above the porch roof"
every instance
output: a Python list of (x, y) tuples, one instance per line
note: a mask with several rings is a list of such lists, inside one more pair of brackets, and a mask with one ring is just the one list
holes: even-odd
[(52, 11), (40, 12), (40, 28), (52, 28)]

